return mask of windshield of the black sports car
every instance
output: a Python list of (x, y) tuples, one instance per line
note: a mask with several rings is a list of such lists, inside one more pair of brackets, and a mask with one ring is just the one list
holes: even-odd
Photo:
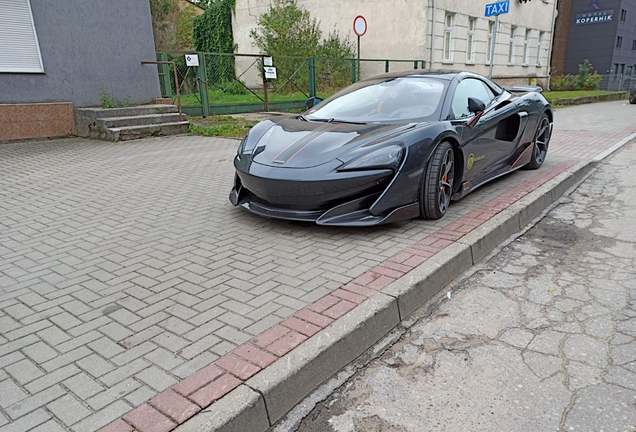
[(446, 81), (434, 78), (365, 80), (321, 102), (305, 118), (364, 123), (437, 120), (445, 90)]

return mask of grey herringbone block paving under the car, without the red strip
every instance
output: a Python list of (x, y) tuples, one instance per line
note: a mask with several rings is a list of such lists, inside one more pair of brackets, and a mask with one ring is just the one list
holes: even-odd
[[(624, 102), (557, 112), (541, 171), (636, 131)], [(0, 431), (93, 432), (537, 172), (438, 222), (258, 218), (227, 199), (238, 141), (0, 145)]]

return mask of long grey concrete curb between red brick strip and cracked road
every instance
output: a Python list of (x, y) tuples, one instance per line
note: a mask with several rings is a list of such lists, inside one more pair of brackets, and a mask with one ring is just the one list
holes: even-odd
[[(618, 144), (622, 146), (628, 141), (629, 137)], [(618, 149), (618, 144), (610, 150)], [(265, 432), (320, 384), (405, 321), (450, 281), (535, 219), (597, 164), (598, 160), (579, 162), (528, 193), (176, 430)]]

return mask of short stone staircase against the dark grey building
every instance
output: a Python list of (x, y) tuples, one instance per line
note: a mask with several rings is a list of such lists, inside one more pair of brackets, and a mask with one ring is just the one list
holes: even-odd
[(104, 141), (127, 141), (188, 132), (188, 118), (174, 105), (126, 108), (76, 108), (77, 134)]

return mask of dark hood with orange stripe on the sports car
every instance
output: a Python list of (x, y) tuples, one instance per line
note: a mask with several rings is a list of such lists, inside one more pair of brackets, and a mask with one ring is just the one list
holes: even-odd
[[(252, 151), (252, 161), (280, 168), (309, 168), (346, 155), (363, 146), (375, 146), (414, 128), (409, 124), (348, 124), (285, 118), (263, 134)], [(356, 152), (357, 153), (357, 152)]]

